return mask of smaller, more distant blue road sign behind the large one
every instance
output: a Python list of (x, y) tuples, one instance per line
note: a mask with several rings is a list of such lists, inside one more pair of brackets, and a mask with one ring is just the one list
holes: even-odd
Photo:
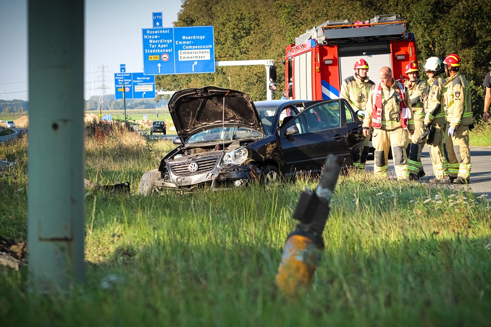
[(114, 91), (116, 99), (153, 99), (155, 98), (155, 76), (143, 73), (114, 74)]

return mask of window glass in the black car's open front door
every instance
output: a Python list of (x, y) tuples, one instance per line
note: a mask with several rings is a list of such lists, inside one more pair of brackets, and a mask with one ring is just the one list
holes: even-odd
[(340, 103), (323, 102), (304, 110), (305, 122), (310, 133), (325, 131), (341, 126)]

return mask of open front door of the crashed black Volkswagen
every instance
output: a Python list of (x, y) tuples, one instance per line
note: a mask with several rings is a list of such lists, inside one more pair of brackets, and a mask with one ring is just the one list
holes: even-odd
[[(298, 133), (287, 136), (296, 126)], [(339, 99), (313, 103), (280, 130), (285, 172), (319, 173), (327, 154), (341, 155), (351, 164), (346, 114)]]

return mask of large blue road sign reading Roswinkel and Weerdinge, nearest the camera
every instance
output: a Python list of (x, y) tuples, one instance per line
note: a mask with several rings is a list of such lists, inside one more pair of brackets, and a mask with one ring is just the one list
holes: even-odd
[(145, 75), (215, 73), (213, 26), (142, 28)]

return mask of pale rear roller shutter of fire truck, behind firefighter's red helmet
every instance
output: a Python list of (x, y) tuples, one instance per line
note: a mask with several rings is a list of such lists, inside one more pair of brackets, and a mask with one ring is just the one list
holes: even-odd
[(355, 75), (353, 64), (360, 58), (363, 58), (368, 62), (368, 66), (370, 67), (368, 70), (368, 78), (372, 80), (375, 85), (380, 83), (379, 71), (382, 67), (387, 66), (392, 69), (392, 65), (390, 64), (390, 54), (350, 55), (345, 57), (340, 56), (339, 70), (341, 74), (341, 81)]

